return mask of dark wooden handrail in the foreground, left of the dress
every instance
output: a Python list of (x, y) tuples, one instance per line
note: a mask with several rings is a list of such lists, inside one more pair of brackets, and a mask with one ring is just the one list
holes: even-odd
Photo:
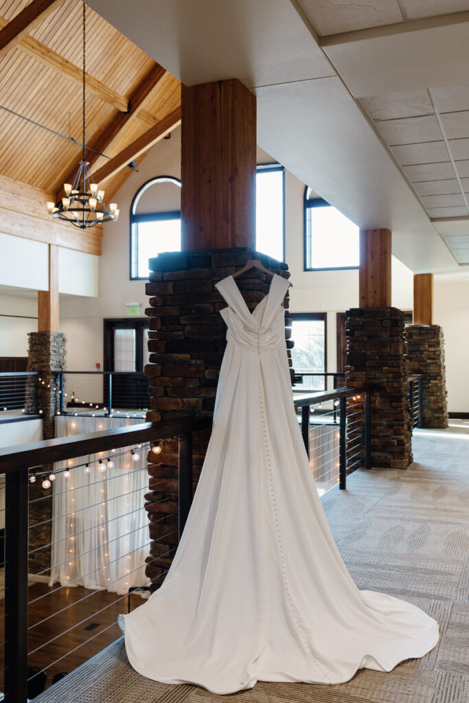
[(212, 427), (212, 418), (209, 416), (177, 418), (10, 446), (0, 449), (0, 473), (8, 474), (27, 467), (52, 464), (55, 461), (65, 461), (110, 449), (120, 449), (143, 441), (160, 441), (210, 427)]

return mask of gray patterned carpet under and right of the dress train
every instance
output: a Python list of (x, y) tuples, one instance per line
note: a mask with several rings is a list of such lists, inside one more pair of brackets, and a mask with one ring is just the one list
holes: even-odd
[(257, 683), (215, 696), (135, 673), (122, 640), (35, 703), (467, 703), (469, 700), (469, 431), (417, 430), (407, 470), (359, 470), (323, 496), (333, 535), (359, 588), (413, 602), (439, 643), (389, 673), (361, 669), (338, 685)]

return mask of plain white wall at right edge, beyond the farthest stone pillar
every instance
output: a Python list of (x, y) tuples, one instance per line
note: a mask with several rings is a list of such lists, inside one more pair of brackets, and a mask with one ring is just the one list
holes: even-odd
[(469, 272), (465, 277), (435, 276), (434, 283), (434, 322), (444, 332), (449, 411), (469, 413)]

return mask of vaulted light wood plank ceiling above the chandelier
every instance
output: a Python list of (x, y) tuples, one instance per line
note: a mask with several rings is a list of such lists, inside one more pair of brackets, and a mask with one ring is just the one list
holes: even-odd
[[(0, 0), (0, 29), (28, 4), (30, 0)], [(60, 195), (63, 181), (75, 172), (82, 141), (82, 51), (81, 0), (59, 3), (13, 48), (1, 51), (0, 105), (7, 108), (0, 109), (2, 176)], [(86, 144), (101, 146), (107, 157), (120, 154), (181, 105), (179, 81), (158, 70), (152, 58), (91, 8), (86, 8), (86, 72)], [(91, 160), (91, 170), (108, 162), (105, 157)], [(130, 173), (121, 169), (101, 183), (106, 202)]]

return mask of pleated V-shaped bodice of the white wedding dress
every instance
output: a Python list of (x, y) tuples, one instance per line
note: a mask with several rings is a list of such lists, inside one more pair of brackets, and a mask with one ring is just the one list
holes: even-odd
[(285, 344), (285, 308), (282, 305), (288, 280), (274, 273), (269, 292), (250, 312), (233, 276), (226, 276), (215, 287), (228, 307), (220, 310), (227, 332), (226, 340), (251, 352), (272, 352)]

